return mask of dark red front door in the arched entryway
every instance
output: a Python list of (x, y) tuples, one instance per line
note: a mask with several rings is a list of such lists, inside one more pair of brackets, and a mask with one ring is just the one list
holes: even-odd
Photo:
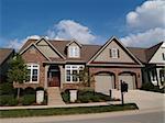
[(59, 87), (59, 72), (58, 71), (51, 71), (51, 80), (50, 87)]

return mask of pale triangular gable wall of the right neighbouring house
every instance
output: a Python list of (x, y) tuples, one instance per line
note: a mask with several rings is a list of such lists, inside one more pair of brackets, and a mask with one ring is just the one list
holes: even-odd
[(150, 64), (164, 64), (165, 66), (165, 60), (163, 59), (162, 53), (165, 54), (165, 47), (163, 45), (157, 49), (157, 52), (154, 54), (154, 56), (148, 63)]

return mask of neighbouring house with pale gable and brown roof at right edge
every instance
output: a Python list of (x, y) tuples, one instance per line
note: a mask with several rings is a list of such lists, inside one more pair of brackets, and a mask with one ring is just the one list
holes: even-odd
[(129, 48), (145, 67), (142, 69), (143, 81), (155, 86), (165, 82), (165, 42), (150, 48)]

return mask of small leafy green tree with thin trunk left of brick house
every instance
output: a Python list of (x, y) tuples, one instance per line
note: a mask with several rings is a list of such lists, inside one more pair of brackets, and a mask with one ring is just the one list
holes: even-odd
[[(23, 83), (28, 80), (28, 68), (21, 55), (16, 54), (10, 63), (8, 71), (9, 82)], [(18, 99), (20, 99), (20, 87), (18, 87)]]

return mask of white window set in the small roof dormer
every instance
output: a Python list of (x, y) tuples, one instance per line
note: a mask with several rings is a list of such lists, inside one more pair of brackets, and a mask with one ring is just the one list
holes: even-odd
[(68, 47), (68, 56), (69, 57), (79, 57), (79, 47), (78, 46), (69, 46)]

